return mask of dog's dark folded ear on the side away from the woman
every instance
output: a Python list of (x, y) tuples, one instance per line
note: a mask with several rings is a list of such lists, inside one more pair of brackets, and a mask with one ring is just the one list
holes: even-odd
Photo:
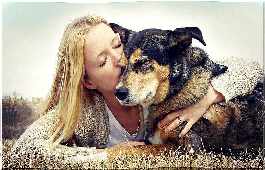
[(183, 51), (190, 46), (192, 38), (199, 40), (199, 42), (206, 46), (202, 38), (202, 32), (199, 28), (186, 27), (177, 28), (169, 33), (169, 48)]

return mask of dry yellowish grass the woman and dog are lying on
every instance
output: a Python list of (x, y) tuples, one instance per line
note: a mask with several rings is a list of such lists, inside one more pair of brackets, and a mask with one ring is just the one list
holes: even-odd
[(2, 141), (3, 168), (52, 168), (52, 169), (127, 169), (127, 168), (157, 168), (157, 167), (206, 167), (206, 168), (253, 168), (265, 169), (264, 155), (253, 156), (250, 153), (225, 156), (214, 152), (169, 153), (167, 156), (146, 157), (128, 155), (117, 156), (107, 161), (86, 161), (84, 163), (64, 162), (63, 160), (45, 160), (36, 158), (10, 159), (9, 153), (16, 140)]

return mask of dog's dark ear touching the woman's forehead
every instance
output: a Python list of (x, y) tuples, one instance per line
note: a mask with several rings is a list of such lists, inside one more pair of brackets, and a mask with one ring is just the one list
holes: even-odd
[(120, 38), (121, 38), (121, 42), (124, 45), (128, 42), (128, 40), (131, 38), (131, 36), (134, 33), (136, 33), (135, 31), (123, 28), (123, 27), (121, 27), (115, 23), (110, 23), (109, 25), (112, 28), (112, 30), (114, 31), (114, 33), (119, 33)]

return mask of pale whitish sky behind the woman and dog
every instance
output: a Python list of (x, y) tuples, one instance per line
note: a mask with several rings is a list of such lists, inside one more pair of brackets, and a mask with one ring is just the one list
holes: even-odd
[(2, 94), (44, 98), (64, 28), (87, 14), (134, 31), (197, 26), (207, 46), (192, 45), (210, 58), (241, 56), (263, 65), (263, 2), (2, 2)]

